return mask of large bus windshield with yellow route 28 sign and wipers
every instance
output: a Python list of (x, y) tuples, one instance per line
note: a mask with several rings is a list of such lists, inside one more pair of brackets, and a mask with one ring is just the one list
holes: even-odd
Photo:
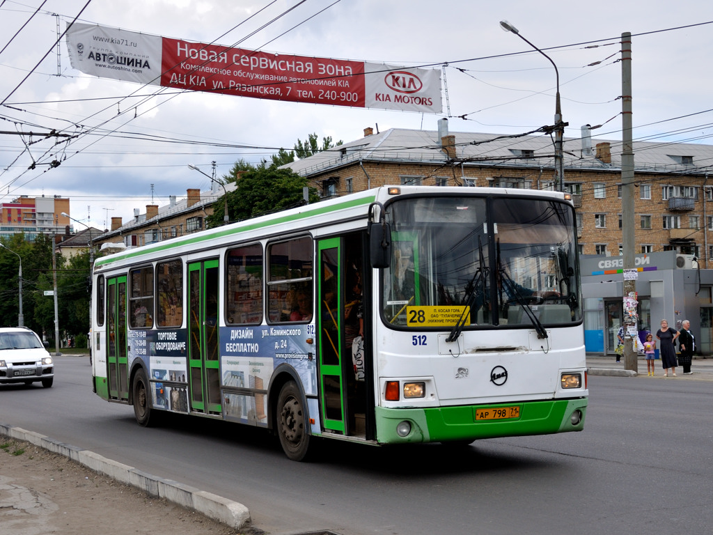
[(581, 320), (574, 210), (552, 199), (404, 198), (386, 209), (382, 313), (401, 328)]

